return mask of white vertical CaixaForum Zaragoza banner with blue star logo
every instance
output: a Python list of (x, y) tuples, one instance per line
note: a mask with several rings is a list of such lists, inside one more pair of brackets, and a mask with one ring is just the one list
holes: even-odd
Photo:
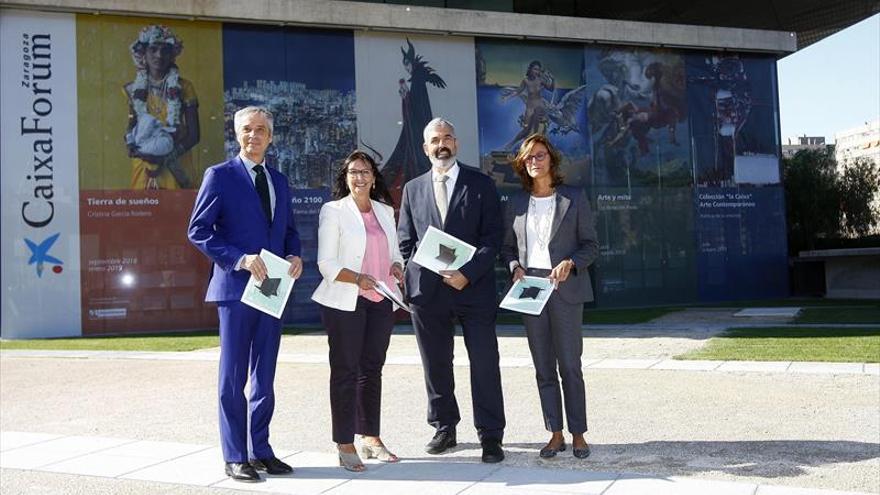
[(76, 22), (0, 15), (3, 338), (80, 334)]

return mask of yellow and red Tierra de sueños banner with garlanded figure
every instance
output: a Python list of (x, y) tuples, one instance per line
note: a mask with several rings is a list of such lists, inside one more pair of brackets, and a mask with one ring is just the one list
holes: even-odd
[(83, 334), (216, 326), (186, 238), (222, 161), (219, 23), (77, 17)]

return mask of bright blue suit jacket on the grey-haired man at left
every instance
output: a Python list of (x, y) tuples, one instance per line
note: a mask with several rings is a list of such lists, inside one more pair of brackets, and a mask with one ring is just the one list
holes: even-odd
[(250, 272), (236, 271), (235, 264), (244, 254), (266, 249), (282, 258), (300, 255), (287, 178), (269, 167), (266, 170), (275, 189), (271, 224), (241, 158), (205, 171), (188, 230), (190, 242), (214, 262), (205, 301), (241, 299)]

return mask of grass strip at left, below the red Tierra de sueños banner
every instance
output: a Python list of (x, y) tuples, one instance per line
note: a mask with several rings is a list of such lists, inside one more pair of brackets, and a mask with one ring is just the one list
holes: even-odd
[[(319, 328), (288, 327), (285, 335), (296, 335)], [(220, 345), (215, 330), (171, 334), (116, 335), (111, 337), (74, 337), (60, 339), (3, 340), (0, 350), (34, 349), (64, 351), (149, 351), (186, 352)]]

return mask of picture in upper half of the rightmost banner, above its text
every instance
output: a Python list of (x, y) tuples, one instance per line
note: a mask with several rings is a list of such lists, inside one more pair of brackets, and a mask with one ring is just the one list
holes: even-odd
[(775, 59), (730, 53), (685, 57), (697, 186), (779, 184)]

